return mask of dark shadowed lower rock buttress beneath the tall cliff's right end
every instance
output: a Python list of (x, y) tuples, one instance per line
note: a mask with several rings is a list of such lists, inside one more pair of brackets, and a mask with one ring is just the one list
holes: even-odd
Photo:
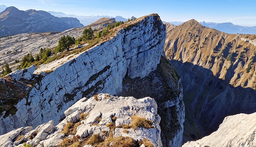
[(173, 65), (161, 56), (155, 71), (144, 78), (123, 79), (123, 96), (143, 98), (150, 96), (156, 100), (158, 114), (161, 116), (161, 140), (164, 147), (180, 147), (185, 121), (183, 88), (180, 75)]

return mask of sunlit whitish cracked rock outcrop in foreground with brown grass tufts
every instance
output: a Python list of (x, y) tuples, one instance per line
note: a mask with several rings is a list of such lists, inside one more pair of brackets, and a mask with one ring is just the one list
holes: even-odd
[[(162, 147), (159, 126), (161, 118), (157, 114), (155, 100), (149, 97), (137, 100), (133, 97), (100, 93), (90, 99), (78, 100), (65, 111), (65, 115), (66, 118), (56, 127), (53, 126), (53, 121), (49, 121), (33, 130), (32, 127), (19, 128), (1, 135), (0, 144), (8, 147), (16, 147), (23, 143), (33, 147), (56, 147), (61, 142), (64, 143), (64, 138), (69, 138), (80, 140), (79, 144), (82, 145), (87, 142), (86, 138), (97, 134), (100, 135), (102, 142), (108, 138), (113, 138), (114, 141), (115, 138), (123, 136), (133, 138), (136, 142), (147, 138), (154, 147)], [(136, 121), (133, 116), (145, 118), (145, 122), (152, 122), (150, 128), (143, 125), (130, 126)], [(68, 125), (70, 128), (76, 126), (72, 133), (70, 128), (67, 130)]]

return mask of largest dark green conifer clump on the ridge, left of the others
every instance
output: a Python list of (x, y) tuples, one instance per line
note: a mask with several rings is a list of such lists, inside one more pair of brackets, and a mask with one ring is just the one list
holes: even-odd
[(67, 36), (62, 36), (60, 39), (59, 39), (59, 44), (58, 46), (56, 47), (56, 51), (55, 53), (59, 53), (59, 52), (62, 52), (64, 51), (65, 49), (67, 49), (69, 51), (69, 47), (73, 44), (75, 44), (76, 42), (76, 39), (74, 37), (71, 37), (69, 35)]

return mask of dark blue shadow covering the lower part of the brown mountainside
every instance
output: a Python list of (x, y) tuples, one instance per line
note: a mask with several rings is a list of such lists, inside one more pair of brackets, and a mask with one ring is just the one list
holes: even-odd
[(209, 69), (192, 63), (170, 61), (183, 84), (185, 122), (183, 143), (216, 131), (230, 115), (256, 112), (256, 91), (218, 79)]

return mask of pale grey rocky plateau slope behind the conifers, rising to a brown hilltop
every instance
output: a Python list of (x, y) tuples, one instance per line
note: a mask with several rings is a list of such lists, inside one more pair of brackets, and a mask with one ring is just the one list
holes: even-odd
[(0, 65), (6, 61), (14, 71), (18, 66), (18, 64), (15, 63), (15, 59), (21, 61), (28, 53), (35, 56), (40, 52), (40, 48), (54, 48), (58, 45), (59, 39), (63, 35), (69, 35), (77, 39), (83, 35), (85, 28), (102, 29), (109, 23), (114, 22), (114, 19), (102, 18), (88, 26), (71, 28), (60, 33), (23, 33), (11, 37), (3, 37), (0, 39)]

